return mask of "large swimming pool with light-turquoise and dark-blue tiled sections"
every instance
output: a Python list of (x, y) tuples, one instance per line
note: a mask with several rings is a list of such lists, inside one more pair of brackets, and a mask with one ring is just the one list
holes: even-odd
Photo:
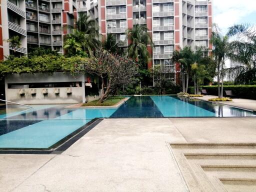
[(32, 106), (9, 105), (0, 110), (1, 149), (49, 149), (97, 117), (256, 116), (251, 111), (178, 96), (131, 96), (119, 108), (77, 109), (65, 108), (62, 104)]

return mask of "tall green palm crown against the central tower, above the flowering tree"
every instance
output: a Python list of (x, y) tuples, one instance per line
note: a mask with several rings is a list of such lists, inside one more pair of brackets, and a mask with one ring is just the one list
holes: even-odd
[(126, 31), (127, 37), (131, 41), (127, 48), (128, 57), (136, 61), (141, 58), (144, 64), (149, 59), (147, 44), (153, 46), (151, 36), (147, 30), (145, 26), (134, 25), (133, 28), (129, 28)]

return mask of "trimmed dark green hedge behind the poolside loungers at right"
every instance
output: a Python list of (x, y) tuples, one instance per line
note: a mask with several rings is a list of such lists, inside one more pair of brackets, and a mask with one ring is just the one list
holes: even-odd
[[(188, 87), (189, 93), (194, 93), (193, 87)], [(208, 94), (218, 95), (217, 85), (202, 86), (202, 89), (206, 89)], [(256, 99), (256, 85), (224, 85), (223, 90), (232, 90), (238, 98)], [(223, 93), (225, 95), (225, 92)]]

